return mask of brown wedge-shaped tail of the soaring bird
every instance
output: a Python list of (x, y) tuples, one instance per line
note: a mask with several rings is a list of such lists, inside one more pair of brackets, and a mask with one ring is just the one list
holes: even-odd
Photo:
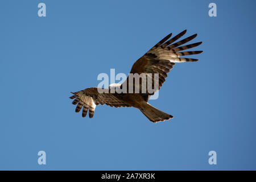
[(143, 106), (140, 108), (140, 110), (142, 111), (142, 113), (144, 115), (146, 115), (146, 117), (150, 121), (152, 121), (154, 123), (173, 118), (172, 115), (164, 113), (163, 111), (160, 111), (159, 109), (156, 109), (155, 107), (151, 106), (147, 102), (145, 102), (145, 104), (143, 104)]

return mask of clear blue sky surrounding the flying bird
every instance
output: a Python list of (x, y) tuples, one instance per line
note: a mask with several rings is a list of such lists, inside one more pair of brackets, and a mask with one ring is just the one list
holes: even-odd
[[(47, 16), (38, 16), (38, 3)], [(208, 16), (210, 2), (217, 17)], [(256, 169), (255, 1), (1, 1), (0, 169)], [(69, 92), (129, 73), (160, 39), (187, 29), (204, 53), (168, 73), (150, 104), (75, 113)], [(47, 154), (39, 165), (38, 151)], [(217, 165), (208, 152), (217, 152)]]

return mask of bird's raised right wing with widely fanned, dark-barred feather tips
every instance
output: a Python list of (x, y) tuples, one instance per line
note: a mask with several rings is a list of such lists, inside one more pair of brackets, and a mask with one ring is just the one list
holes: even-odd
[[(188, 44), (186, 46), (181, 46), (182, 44), (185, 44), (189, 42), (190, 40), (194, 39), (197, 34), (194, 34), (192, 36), (189, 36), (188, 38), (185, 38), (183, 40), (180, 40), (179, 42), (174, 43), (177, 39), (181, 38), (187, 32), (187, 30), (184, 30), (180, 34), (174, 36), (171, 38), (172, 34), (167, 35), (165, 38), (163, 38), (159, 43), (157, 43), (154, 47), (152, 47), (145, 55), (143, 55), (140, 59), (138, 59), (131, 68), (130, 73), (146, 73), (147, 79), (152, 79), (152, 87), (154, 88), (154, 92), (156, 90), (160, 89), (160, 86), (163, 85), (163, 82), (166, 81), (167, 73), (170, 72), (170, 69), (172, 69), (175, 65), (175, 63), (181, 63), (181, 62), (189, 62), (189, 61), (198, 61), (198, 59), (191, 59), (191, 58), (184, 58), (180, 56), (186, 56), (186, 55), (196, 55), (203, 51), (185, 51), (180, 52), (185, 49), (193, 48), (196, 46), (199, 46), (202, 42), (197, 42), (193, 44)], [(171, 39), (170, 39), (171, 38)], [(168, 40), (169, 39), (169, 40)], [(178, 47), (180, 46), (180, 47)], [(152, 76), (150, 76), (151, 73)], [(159, 86), (158, 88), (155, 88), (154, 86), (154, 74), (159, 74)], [(129, 84), (129, 77), (124, 82), (125, 84)], [(141, 82), (139, 82), (140, 92), (141, 92)], [(133, 84), (135, 85), (135, 84)], [(127, 86), (128, 88), (128, 86)], [(152, 95), (154, 93), (148, 93), (148, 95)]]

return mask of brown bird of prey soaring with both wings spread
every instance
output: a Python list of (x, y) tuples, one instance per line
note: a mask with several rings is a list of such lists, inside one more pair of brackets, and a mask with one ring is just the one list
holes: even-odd
[[(198, 59), (180, 57), (187, 55), (196, 55), (203, 52), (183, 51), (185, 49), (199, 46), (202, 42), (181, 46), (194, 39), (197, 34), (194, 34), (192, 36), (189, 36), (188, 38), (174, 43), (176, 40), (181, 38), (181, 36), (183, 36), (185, 32), (187, 32), (187, 30), (184, 30), (173, 38), (171, 38), (172, 34), (167, 35), (133, 64), (130, 74), (144, 73), (145, 75), (147, 75), (148, 78), (152, 79), (152, 82), (154, 82), (154, 75), (158, 75), (158, 86), (154, 86), (156, 85), (154, 84), (155, 82), (152, 84), (153, 87), (156, 87), (154, 88), (153, 93), (149, 93), (148, 90), (146, 90), (145, 93), (110, 92), (112, 86), (122, 89), (124, 84), (129, 85), (129, 77), (127, 77), (126, 81), (124, 81), (123, 84), (112, 84), (109, 86), (109, 89), (104, 89), (104, 93), (98, 92), (98, 88), (96, 87), (80, 90), (79, 92), (75, 93), (71, 92), (73, 96), (69, 98), (75, 99), (73, 100), (72, 104), (77, 104), (76, 113), (78, 113), (82, 109), (82, 117), (85, 117), (89, 110), (89, 118), (92, 118), (96, 105), (106, 104), (112, 107), (136, 107), (141, 110), (142, 113), (151, 122), (165, 121), (173, 118), (172, 115), (164, 113), (163, 111), (156, 109), (155, 107), (148, 104), (148, 98), (150, 98), (150, 96), (153, 95), (156, 90), (160, 89), (160, 86), (162, 86), (163, 82), (166, 81), (167, 73), (170, 72), (170, 70), (174, 67), (175, 63), (198, 61)], [(137, 82), (137, 85), (135, 84), (133, 84), (133, 87), (135, 88), (136, 86), (138, 86), (141, 91), (142, 82), (139, 81), (139, 83)], [(128, 86), (126, 86), (126, 89), (127, 88)]]

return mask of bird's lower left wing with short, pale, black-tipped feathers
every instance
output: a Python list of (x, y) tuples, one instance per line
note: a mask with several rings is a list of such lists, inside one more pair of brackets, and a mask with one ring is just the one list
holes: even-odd
[(85, 117), (89, 110), (89, 117), (92, 118), (96, 105), (106, 104), (111, 107), (130, 107), (120, 100), (116, 93), (109, 93), (109, 89), (104, 89), (104, 93), (99, 93), (98, 88), (96, 87), (75, 92), (73, 93), (73, 96), (69, 98), (75, 99), (72, 104), (77, 104), (76, 113), (79, 113), (82, 109), (82, 117)]

